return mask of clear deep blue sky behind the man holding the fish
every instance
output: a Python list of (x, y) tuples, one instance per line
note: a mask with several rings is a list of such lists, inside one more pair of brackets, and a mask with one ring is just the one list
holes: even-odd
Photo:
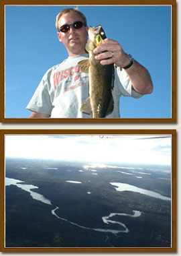
[[(66, 6), (69, 7), (69, 6)], [(72, 6), (75, 7), (75, 6)], [(5, 117), (27, 118), (25, 107), (44, 73), (61, 63), (56, 15), (64, 6), (5, 7)], [(122, 118), (171, 118), (171, 7), (79, 6), (88, 26), (101, 24), (152, 76), (154, 92), (121, 97)]]

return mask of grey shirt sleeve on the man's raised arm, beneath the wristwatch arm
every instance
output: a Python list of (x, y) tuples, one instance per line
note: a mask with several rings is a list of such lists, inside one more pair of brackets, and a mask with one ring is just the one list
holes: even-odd
[(115, 80), (119, 85), (119, 91), (123, 96), (131, 96), (133, 98), (141, 98), (143, 96), (143, 94), (139, 94), (132, 89), (131, 81), (124, 69), (116, 67)]

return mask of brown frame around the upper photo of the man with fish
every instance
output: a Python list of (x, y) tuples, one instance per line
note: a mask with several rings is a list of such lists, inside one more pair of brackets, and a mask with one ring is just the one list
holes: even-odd
[[(68, 5), (172, 5), (172, 117), (170, 119), (29, 119), (29, 118), (5, 118), (5, 71), (4, 65), (0, 69), (0, 81), (2, 93), (0, 95), (1, 110), (0, 121), (2, 123), (176, 123), (176, 0), (69, 0)], [(60, 5), (58, 0), (1, 0), (0, 3), (0, 63), (5, 63), (5, 5)], [(66, 0), (61, 5), (67, 5)]]

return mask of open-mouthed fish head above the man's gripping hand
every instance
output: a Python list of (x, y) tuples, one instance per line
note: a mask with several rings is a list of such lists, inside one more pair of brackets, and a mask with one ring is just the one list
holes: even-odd
[(99, 45), (105, 38), (105, 31), (103, 30), (102, 26), (91, 27), (88, 29), (88, 36), (89, 39), (95, 42), (96, 45)]

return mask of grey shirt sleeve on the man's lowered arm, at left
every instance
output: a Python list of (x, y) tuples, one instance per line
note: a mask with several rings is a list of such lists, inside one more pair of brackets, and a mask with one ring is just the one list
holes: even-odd
[(51, 115), (53, 106), (48, 88), (50, 88), (50, 82), (46, 73), (26, 108), (33, 112)]

